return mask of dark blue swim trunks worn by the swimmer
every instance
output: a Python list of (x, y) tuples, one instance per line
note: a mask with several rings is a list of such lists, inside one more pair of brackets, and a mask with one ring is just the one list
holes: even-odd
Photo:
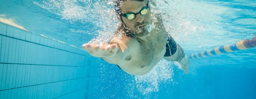
[[(174, 41), (174, 39), (171, 36), (167, 36), (167, 43), (166, 43), (165, 48), (166, 48), (166, 51), (165, 51), (165, 54), (164, 54), (165, 57), (166, 56), (171, 56), (176, 52), (177, 45), (176, 45), (176, 42)], [(117, 65), (117, 67), (120, 68), (118, 65)]]

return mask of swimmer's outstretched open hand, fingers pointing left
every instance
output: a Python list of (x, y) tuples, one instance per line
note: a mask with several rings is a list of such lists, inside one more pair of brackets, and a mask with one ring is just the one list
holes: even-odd
[(90, 55), (94, 57), (111, 57), (117, 52), (117, 44), (97, 44), (87, 43), (82, 46)]

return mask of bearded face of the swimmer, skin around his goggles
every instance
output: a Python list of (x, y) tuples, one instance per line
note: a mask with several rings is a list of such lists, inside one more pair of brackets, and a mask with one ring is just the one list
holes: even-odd
[[(142, 1), (134, 1), (134, 0), (128, 0), (124, 1), (122, 3), (122, 6), (120, 7), (121, 13), (139, 13), (140, 10), (145, 7), (147, 4), (146, 2)], [(123, 22), (127, 28), (130, 29), (131, 32), (135, 33), (138, 36), (146, 36), (149, 34), (147, 31), (147, 28), (149, 24), (151, 24), (151, 16), (150, 11), (148, 8), (148, 13), (145, 15), (137, 14), (135, 18), (128, 19), (124, 16), (121, 16), (123, 19)]]

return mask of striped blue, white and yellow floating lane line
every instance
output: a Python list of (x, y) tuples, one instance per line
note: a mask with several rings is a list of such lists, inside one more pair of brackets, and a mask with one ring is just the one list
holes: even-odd
[(255, 47), (256, 47), (256, 37), (254, 37), (252, 39), (241, 40), (233, 45), (225, 45), (225, 46), (220, 46), (220, 47), (214, 48), (212, 50), (204, 50), (200, 53), (193, 53), (190, 55), (186, 55), (186, 57), (188, 59), (196, 59), (196, 58), (202, 58), (202, 57), (206, 57), (206, 56), (223, 54), (226, 52), (250, 49), (250, 48), (255, 48)]

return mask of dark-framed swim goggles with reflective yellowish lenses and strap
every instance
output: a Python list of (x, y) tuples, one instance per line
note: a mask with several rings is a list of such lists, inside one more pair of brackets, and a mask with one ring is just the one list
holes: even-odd
[(146, 5), (145, 7), (143, 7), (143, 8), (140, 10), (139, 13), (136, 13), (136, 14), (135, 14), (135, 13), (125, 13), (125, 14), (120, 13), (120, 15), (121, 15), (121, 16), (124, 16), (124, 17), (126, 17), (126, 18), (128, 18), (128, 19), (135, 19), (137, 14), (141, 14), (141, 16), (147, 14), (147, 13), (148, 13), (148, 8), (149, 8), (149, 0), (148, 0), (147, 5)]

